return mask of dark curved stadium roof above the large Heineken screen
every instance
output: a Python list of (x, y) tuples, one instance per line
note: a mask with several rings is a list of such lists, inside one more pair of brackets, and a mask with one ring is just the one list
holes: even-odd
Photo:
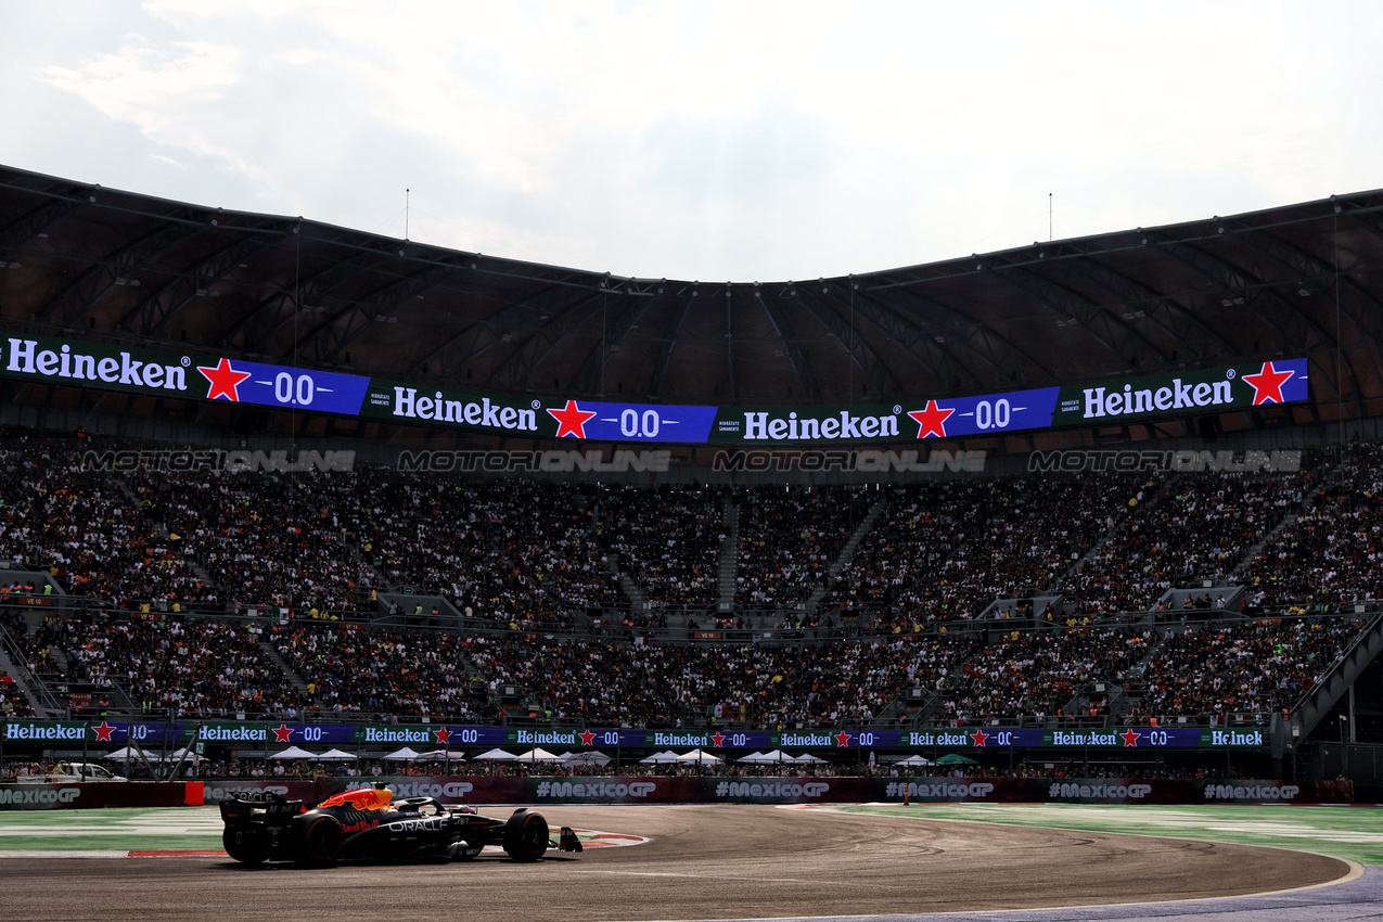
[(0, 167), (11, 329), (639, 402), (887, 401), (1306, 354), (1296, 422), (1376, 416), (1380, 267), (1383, 191), (761, 283), (618, 278)]

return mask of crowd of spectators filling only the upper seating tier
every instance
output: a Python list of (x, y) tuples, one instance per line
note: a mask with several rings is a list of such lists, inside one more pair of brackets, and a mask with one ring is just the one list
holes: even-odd
[[(6, 440), (0, 554), (126, 610), (346, 617), (373, 610), (376, 590), (407, 586), (498, 623), (563, 629), (581, 614), (613, 614), (650, 626), (631, 603), (708, 607), (727, 550), (726, 493), (709, 488), (458, 484), (369, 466), (98, 471), (82, 463), (91, 448), (25, 433)], [(898, 632), (1043, 590), (1087, 615), (1147, 611), (1167, 589), (1234, 574), (1322, 481), (1314, 505), (1249, 564), (1250, 578), (1268, 604), (1373, 597), (1379, 451), (1354, 446), (1333, 480), (1324, 455), (1308, 451), (1296, 474), (741, 488), (732, 498), (736, 605), (795, 610), (820, 589), (838, 621), (864, 614)], [(880, 521), (828, 581), (875, 502)], [(621, 576), (635, 589), (621, 590)]]

